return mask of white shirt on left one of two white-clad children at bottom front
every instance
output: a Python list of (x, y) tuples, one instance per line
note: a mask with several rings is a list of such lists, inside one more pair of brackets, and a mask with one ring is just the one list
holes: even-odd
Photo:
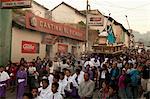
[(51, 86), (48, 86), (46, 89), (40, 88), (39, 89), (41, 99), (49, 99), (51, 93)]

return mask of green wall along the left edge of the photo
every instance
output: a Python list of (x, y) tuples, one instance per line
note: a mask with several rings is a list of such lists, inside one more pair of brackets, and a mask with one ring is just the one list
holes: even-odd
[(0, 65), (6, 65), (11, 56), (12, 10), (0, 9)]

